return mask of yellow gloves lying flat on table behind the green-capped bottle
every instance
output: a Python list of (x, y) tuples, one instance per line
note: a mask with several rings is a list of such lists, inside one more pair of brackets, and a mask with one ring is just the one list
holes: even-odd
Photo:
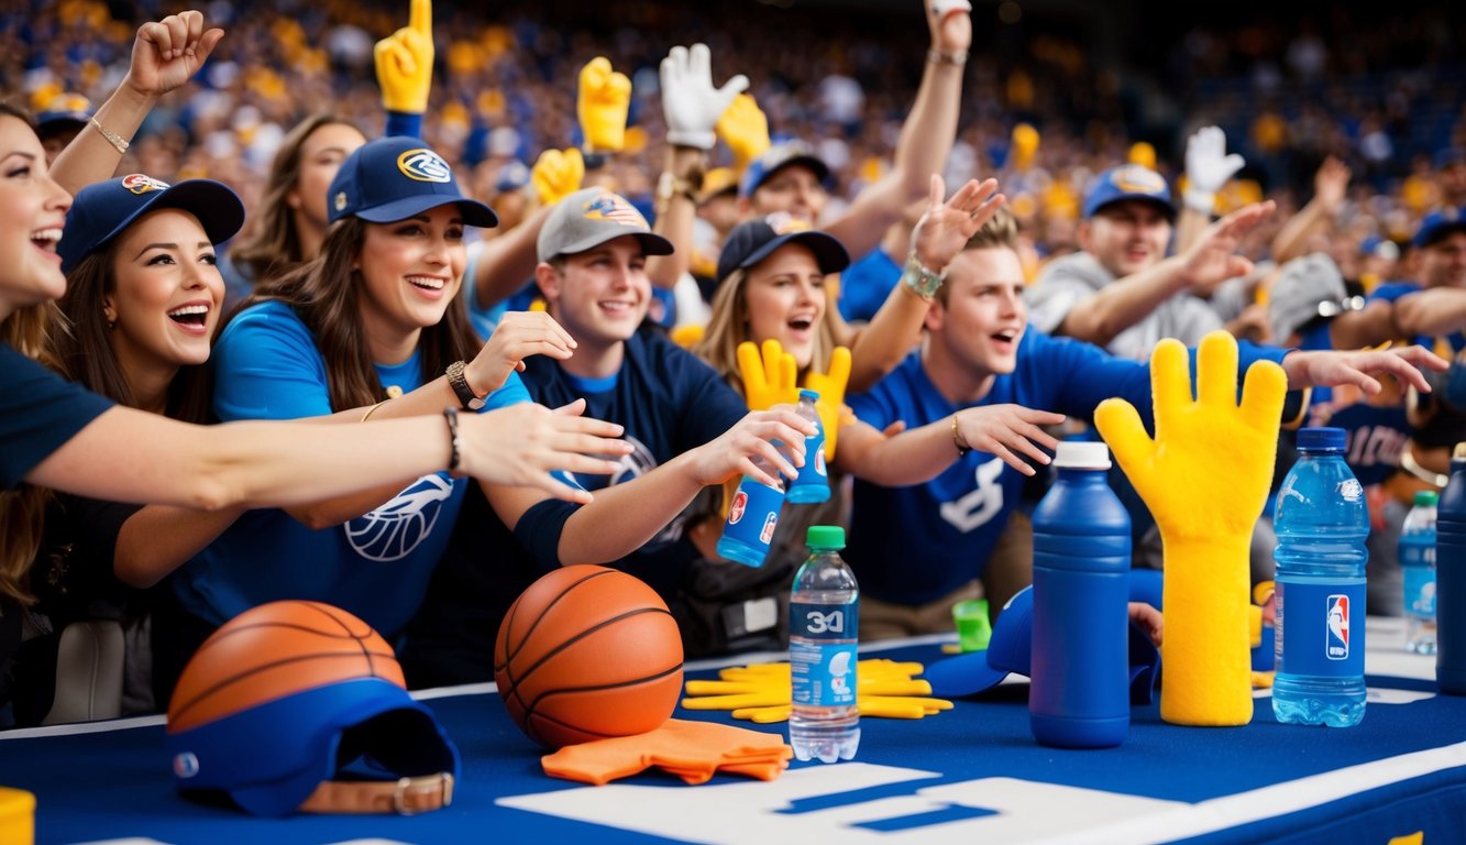
[[(921, 681), (921, 663), (859, 660), (855, 666), (855, 700), (861, 716), (921, 719), (951, 710), (951, 701), (931, 698), (931, 684)], [(793, 687), (789, 663), (732, 666), (718, 681), (688, 681), (688, 710), (732, 710), (734, 719), (759, 725), (789, 719)]]

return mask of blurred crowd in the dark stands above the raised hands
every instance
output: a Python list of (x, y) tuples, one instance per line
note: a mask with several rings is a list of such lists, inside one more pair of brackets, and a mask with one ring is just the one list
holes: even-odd
[[(186, 6), (0, 7), (0, 89), (23, 92), (40, 111), (63, 92), (100, 104), (126, 72), (136, 26)], [(380, 132), (372, 44), (406, 23), (405, 1), (199, 7), (226, 29), (224, 43), (152, 111), (129, 153), (133, 169), (220, 179), (252, 207), (276, 145), (305, 114), (330, 109)], [(542, 150), (579, 142), (576, 75), (594, 56), (633, 82), (617, 188), (649, 194), (664, 136), (657, 65), (693, 41), (711, 47), (715, 82), (746, 73), (774, 138), (817, 144), (837, 175), (836, 197), (852, 197), (888, 166), (928, 45), (913, 0), (438, 0), (434, 23), (427, 139), (472, 169), (468, 182), (491, 204), (528, 180)], [(1463, 25), (1466, 4), (979, 0), (949, 185), (997, 175), (1038, 254), (1061, 254), (1073, 248), (1091, 176), (1154, 156), (1174, 178), (1186, 136), (1215, 123), (1248, 160), (1223, 211), (1265, 195), (1278, 201), (1272, 226), (1281, 224), (1308, 201), (1325, 157), (1349, 164), (1349, 201), (1328, 246), (1352, 277), (1362, 245), (1407, 241), (1451, 179), (1466, 188)], [(1020, 125), (1036, 135), (1016, 135)], [(714, 151), (714, 163), (726, 160)], [(1253, 251), (1271, 235), (1258, 232)]]

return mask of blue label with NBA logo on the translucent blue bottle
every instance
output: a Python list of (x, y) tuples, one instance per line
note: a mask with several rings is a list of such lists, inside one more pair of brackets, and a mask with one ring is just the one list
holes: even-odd
[(1365, 673), (1365, 584), (1277, 582), (1277, 667), (1287, 675)]

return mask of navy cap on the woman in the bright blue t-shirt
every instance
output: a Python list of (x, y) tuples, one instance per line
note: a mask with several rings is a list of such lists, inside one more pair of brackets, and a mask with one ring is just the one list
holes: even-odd
[(459, 191), (453, 169), (419, 138), (368, 141), (342, 161), (325, 194), (330, 222), (361, 217), (396, 223), (438, 205), (457, 204), (463, 223), (498, 226), (494, 210)]

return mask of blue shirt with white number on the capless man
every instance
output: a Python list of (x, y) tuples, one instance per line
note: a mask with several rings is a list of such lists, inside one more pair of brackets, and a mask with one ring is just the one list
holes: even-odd
[[(1281, 361), (1287, 349), (1240, 345), (1245, 368), (1256, 359)], [(973, 405), (1014, 403), (1089, 420), (1111, 396), (1127, 399), (1151, 422), (1151, 367), (1114, 358), (1070, 337), (1050, 337), (1032, 326), (1019, 343), (1017, 367), (997, 376)], [(884, 430), (903, 420), (927, 425), (960, 411), (932, 386), (913, 352), (868, 393), (850, 398), (856, 417)], [(937, 600), (982, 575), (1025, 475), (1001, 458), (973, 449), (940, 475), (909, 487), (881, 487), (856, 478), (850, 541), (843, 552), (861, 591), (900, 604)]]

